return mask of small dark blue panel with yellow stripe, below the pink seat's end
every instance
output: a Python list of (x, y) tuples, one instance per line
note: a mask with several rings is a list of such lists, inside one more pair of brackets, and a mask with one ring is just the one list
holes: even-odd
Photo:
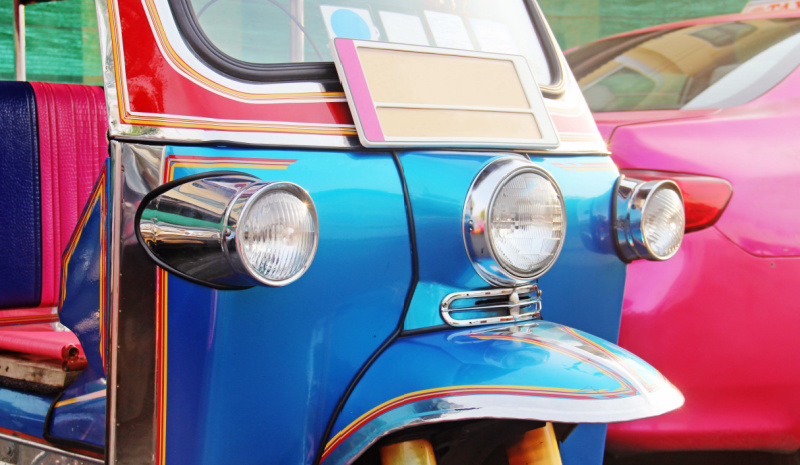
[[(87, 394), (105, 392), (105, 376), (90, 366), (78, 376), (58, 403)], [(106, 397), (81, 400), (56, 407), (50, 424), (50, 436), (68, 441), (104, 447), (106, 434)]]

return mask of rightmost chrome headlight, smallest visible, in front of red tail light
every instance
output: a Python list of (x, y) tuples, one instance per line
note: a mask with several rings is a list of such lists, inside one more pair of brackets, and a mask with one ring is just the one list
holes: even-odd
[(678, 252), (686, 219), (677, 184), (623, 177), (615, 203), (614, 229), (623, 261), (666, 260)]

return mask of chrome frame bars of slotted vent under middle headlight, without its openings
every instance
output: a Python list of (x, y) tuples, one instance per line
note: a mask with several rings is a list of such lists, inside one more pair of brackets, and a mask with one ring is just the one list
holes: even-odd
[[(529, 296), (525, 296), (526, 294), (533, 294)], [(485, 289), (485, 290), (478, 290), (478, 291), (466, 291), (466, 292), (454, 292), (452, 294), (448, 294), (445, 296), (442, 303), (439, 305), (439, 311), (442, 315), (442, 319), (447, 322), (450, 326), (478, 326), (478, 325), (488, 325), (494, 323), (511, 323), (511, 322), (521, 322), (521, 321), (528, 321), (539, 318), (542, 311), (542, 301), (540, 300), (542, 295), (541, 290), (539, 290), (538, 285), (532, 284), (527, 286), (520, 286), (516, 288), (505, 288), (505, 289)], [(480, 298), (497, 298), (508, 296), (509, 301), (508, 303), (490, 303), (485, 305), (474, 305), (470, 307), (456, 307), (451, 308), (451, 305), (463, 299), (480, 299)], [(521, 310), (525, 307), (530, 307), (529, 311), (521, 313)], [(487, 310), (502, 310), (508, 309), (508, 315), (501, 315), (501, 316), (491, 316), (491, 317), (483, 317), (483, 318), (472, 318), (467, 320), (459, 320), (457, 318), (453, 318), (451, 314), (458, 313), (458, 312), (467, 312), (467, 311), (487, 311)]]

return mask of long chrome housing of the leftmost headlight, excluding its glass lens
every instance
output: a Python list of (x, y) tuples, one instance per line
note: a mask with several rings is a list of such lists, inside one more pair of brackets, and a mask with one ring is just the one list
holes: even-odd
[[(166, 186), (165, 186), (166, 187)], [(148, 195), (140, 208), (138, 230), (156, 263), (187, 279), (211, 287), (243, 288), (256, 284), (283, 286), (311, 265), (313, 251), (296, 274), (279, 281), (253, 270), (240, 244), (239, 223), (259, 196), (285, 191), (301, 199), (317, 223), (314, 202), (300, 186), (258, 182), (247, 175), (209, 175)], [(313, 250), (317, 242), (314, 241)]]

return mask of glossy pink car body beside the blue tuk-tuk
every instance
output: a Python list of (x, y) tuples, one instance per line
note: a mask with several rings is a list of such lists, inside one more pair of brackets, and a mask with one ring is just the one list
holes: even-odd
[[(796, 17), (730, 15), (626, 35)], [(661, 417), (610, 425), (608, 449), (796, 451), (800, 69), (741, 105), (594, 116), (624, 174), (658, 170), (732, 186), (719, 219), (689, 232), (675, 257), (628, 269), (620, 345), (661, 370), (686, 403)], [(689, 216), (691, 192), (684, 195)]]

